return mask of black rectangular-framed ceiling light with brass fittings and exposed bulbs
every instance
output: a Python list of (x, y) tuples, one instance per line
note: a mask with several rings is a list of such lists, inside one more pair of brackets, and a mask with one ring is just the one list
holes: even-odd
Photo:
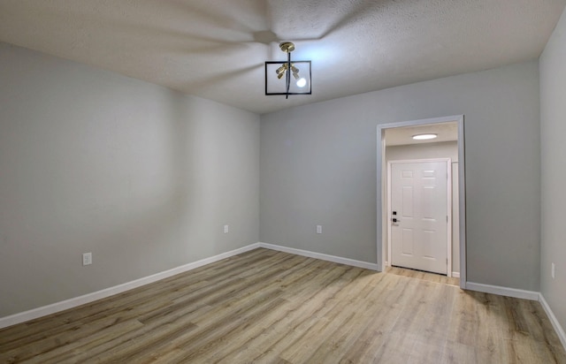
[(291, 61), (292, 42), (279, 43), (287, 61), (265, 62), (265, 95), (310, 95), (310, 61)]

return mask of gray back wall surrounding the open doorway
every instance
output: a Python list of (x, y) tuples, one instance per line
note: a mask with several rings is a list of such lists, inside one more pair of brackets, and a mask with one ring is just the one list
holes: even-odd
[(468, 281), (539, 291), (537, 61), (263, 115), (260, 240), (376, 262), (376, 126), (458, 114)]

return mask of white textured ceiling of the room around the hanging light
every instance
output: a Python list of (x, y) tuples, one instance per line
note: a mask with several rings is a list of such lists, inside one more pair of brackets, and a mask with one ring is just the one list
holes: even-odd
[[(0, 0), (0, 41), (257, 113), (539, 57), (566, 0)], [(264, 61), (312, 60), (312, 95)]]

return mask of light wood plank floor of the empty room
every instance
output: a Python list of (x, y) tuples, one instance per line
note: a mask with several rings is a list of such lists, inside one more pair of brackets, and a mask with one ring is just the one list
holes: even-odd
[(0, 330), (0, 362), (566, 363), (538, 302), (440, 278), (256, 249)]

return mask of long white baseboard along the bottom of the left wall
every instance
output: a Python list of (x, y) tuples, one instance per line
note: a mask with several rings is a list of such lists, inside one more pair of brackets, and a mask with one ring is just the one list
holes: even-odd
[(177, 274), (186, 272), (188, 270), (202, 267), (203, 265), (206, 264), (221, 261), (233, 255), (248, 252), (249, 250), (256, 249), (259, 246), (260, 246), (259, 243), (250, 244), (249, 246), (243, 246), (241, 248), (234, 249), (230, 252), (214, 255), (209, 258), (204, 258), (197, 262), (181, 265), (180, 267), (165, 270), (163, 272), (159, 272), (148, 277), (142, 277), (139, 279), (135, 279), (134, 281), (131, 282), (126, 282), (124, 284), (118, 284), (113, 287), (105, 288), (101, 291), (91, 292), (79, 297), (74, 297), (73, 299), (62, 300), (47, 306), (37, 307), (28, 311), (20, 312), (19, 314), (0, 317), (0, 329), (3, 329), (11, 325), (15, 325), (16, 323), (33, 320), (38, 317), (55, 314), (57, 312), (63, 311), (68, 308), (78, 307), (80, 305), (84, 305), (86, 303), (90, 303), (95, 300), (104, 299), (121, 292), (126, 292), (134, 288), (140, 287), (144, 284), (157, 282), (160, 279), (172, 277)]

